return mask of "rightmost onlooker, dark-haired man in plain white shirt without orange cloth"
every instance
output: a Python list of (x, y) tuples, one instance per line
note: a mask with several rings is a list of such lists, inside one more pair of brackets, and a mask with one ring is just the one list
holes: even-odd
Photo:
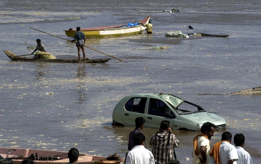
[(234, 143), (236, 145), (236, 151), (238, 152), (237, 164), (253, 164), (251, 156), (243, 149), (245, 136), (243, 134), (236, 134), (234, 136)]

